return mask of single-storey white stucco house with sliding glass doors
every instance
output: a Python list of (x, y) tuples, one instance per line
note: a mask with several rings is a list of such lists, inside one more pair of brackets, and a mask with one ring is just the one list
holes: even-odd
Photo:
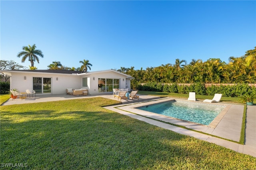
[(65, 94), (67, 88), (88, 89), (89, 94), (113, 92), (114, 88), (129, 89), (130, 75), (116, 70), (70, 71), (70, 70), (1, 70), (10, 76), (10, 89), (25, 92), (34, 89), (36, 95)]

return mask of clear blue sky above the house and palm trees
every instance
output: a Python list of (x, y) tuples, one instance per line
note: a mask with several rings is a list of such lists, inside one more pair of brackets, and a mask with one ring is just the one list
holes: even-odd
[(240, 57), (256, 46), (256, 1), (0, 1), (0, 55), (36, 44), (53, 61), (89, 71), (146, 69), (175, 59)]

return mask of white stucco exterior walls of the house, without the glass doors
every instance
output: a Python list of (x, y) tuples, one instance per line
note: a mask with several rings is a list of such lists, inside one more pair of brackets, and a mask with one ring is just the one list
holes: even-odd
[[(26, 79), (25, 79), (26, 77)], [(119, 88), (130, 90), (130, 79), (127, 75), (115, 71), (97, 71), (86, 74), (61, 74), (61, 73), (41, 73), (41, 72), (11, 72), (10, 89), (18, 89), (20, 93), (26, 89), (33, 89), (33, 77), (51, 78), (51, 92), (42, 95), (65, 94), (67, 88), (88, 89), (88, 94), (100, 94), (98, 92), (98, 79), (119, 79)], [(87, 87), (82, 87), (82, 78), (87, 77)], [(104, 93), (104, 92), (102, 92)], [(40, 95), (36, 93), (37, 95)]]

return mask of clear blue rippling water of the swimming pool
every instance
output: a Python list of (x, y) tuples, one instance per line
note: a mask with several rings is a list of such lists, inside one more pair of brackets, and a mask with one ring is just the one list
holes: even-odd
[(170, 101), (143, 106), (137, 109), (200, 123), (202, 125), (209, 125), (225, 107), (225, 105), (213, 105), (209, 103)]

